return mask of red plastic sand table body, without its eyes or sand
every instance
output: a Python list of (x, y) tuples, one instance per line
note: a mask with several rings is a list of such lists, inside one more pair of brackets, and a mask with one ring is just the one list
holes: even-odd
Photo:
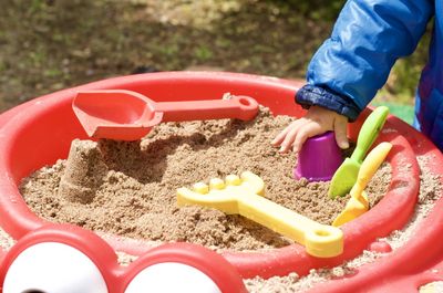
[[(0, 115), (0, 226), (14, 239), (44, 226), (25, 205), (18, 190), (20, 180), (32, 171), (66, 158), (74, 138), (86, 139), (72, 111), (72, 100), (79, 91), (128, 90), (150, 96), (156, 102), (219, 98), (224, 93), (251, 96), (276, 115), (300, 116), (293, 95), (300, 83), (275, 77), (208, 72), (165, 72), (131, 75), (90, 83), (34, 98)], [(356, 140), (367, 109), (359, 121), (350, 124), (349, 134)], [(330, 259), (315, 258), (305, 248), (292, 244), (262, 252), (224, 253), (245, 279), (270, 278), (297, 272), (306, 275), (311, 269), (332, 268), (361, 254), (378, 238), (401, 229), (410, 219), (420, 186), (416, 156), (425, 156), (427, 169), (443, 175), (442, 154), (419, 132), (390, 116), (378, 138), (390, 142), (388, 156), (392, 181), (383, 199), (369, 212), (342, 226), (344, 251)], [(406, 167), (408, 166), (408, 167)], [(352, 276), (330, 281), (313, 292), (406, 292), (422, 283), (440, 280), (443, 258), (443, 201), (439, 200), (421, 227), (420, 238), (411, 239), (403, 248), (372, 264), (360, 268)], [(105, 237), (116, 251), (142, 255), (148, 247), (115, 236)], [(383, 250), (383, 248), (379, 248)], [(432, 270), (431, 270), (432, 269)], [(383, 280), (383, 281), (382, 281)]]

